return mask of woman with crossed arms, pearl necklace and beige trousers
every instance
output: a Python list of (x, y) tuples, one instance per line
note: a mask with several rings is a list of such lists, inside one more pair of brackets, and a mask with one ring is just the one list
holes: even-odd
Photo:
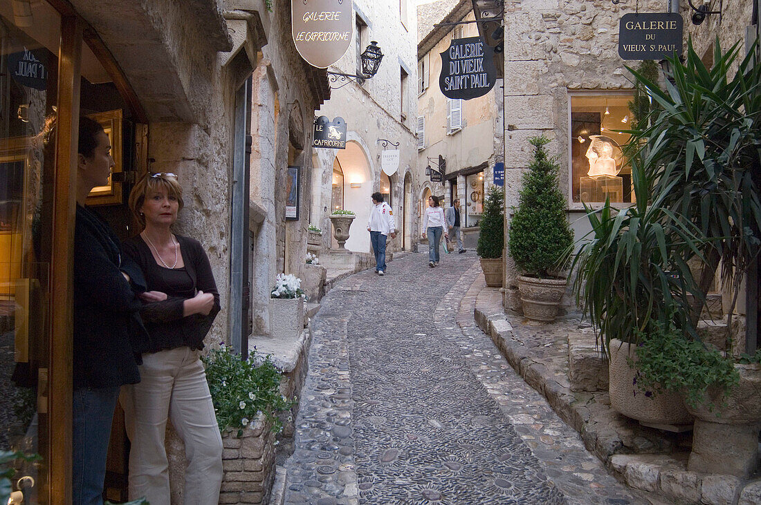
[(123, 389), (132, 442), (129, 498), (169, 505), (164, 450), (169, 420), (185, 443), (185, 503), (216, 505), (222, 440), (199, 353), (219, 311), (219, 294), (199, 241), (171, 232), (182, 207), (182, 187), (170, 173), (146, 175), (129, 195), (129, 208), (143, 230), (123, 247), (142, 268), (154, 296), (141, 310), (149, 335), (139, 349), (142, 381)]

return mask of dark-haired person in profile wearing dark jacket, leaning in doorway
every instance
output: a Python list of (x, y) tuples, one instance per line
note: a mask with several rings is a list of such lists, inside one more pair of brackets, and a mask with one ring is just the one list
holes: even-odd
[(72, 503), (101, 505), (111, 420), (119, 387), (139, 382), (139, 346), (148, 341), (135, 293), (145, 292), (139, 267), (119, 250), (119, 238), (84, 202), (108, 184), (113, 166), (103, 127), (79, 120), (77, 213), (74, 232), (74, 390)]

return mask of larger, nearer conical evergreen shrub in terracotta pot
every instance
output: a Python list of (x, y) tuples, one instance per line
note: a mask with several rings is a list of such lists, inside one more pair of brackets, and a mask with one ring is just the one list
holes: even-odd
[(518, 276), (518, 289), (524, 316), (531, 320), (552, 321), (567, 284), (561, 259), (573, 244), (573, 232), (565, 216), (565, 198), (558, 189), (559, 166), (556, 157), (547, 156), (544, 135), (532, 137), (534, 155), (515, 216), (510, 221), (508, 251), (524, 275)]

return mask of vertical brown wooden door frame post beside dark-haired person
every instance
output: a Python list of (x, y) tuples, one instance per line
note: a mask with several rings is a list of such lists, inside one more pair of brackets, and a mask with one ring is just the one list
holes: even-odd
[(47, 399), (51, 505), (72, 503), (72, 269), (83, 26), (77, 16), (62, 17), (58, 57)]

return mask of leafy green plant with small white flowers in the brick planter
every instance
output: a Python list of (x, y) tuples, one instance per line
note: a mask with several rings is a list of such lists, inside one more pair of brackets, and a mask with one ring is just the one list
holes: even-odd
[(201, 359), (219, 431), (237, 431), (240, 437), (260, 412), (272, 421), (272, 431), (282, 430), (275, 414), (291, 409), (296, 401), (280, 394), (281, 375), (269, 355), (256, 355), (254, 348), (243, 360), (223, 343)]

